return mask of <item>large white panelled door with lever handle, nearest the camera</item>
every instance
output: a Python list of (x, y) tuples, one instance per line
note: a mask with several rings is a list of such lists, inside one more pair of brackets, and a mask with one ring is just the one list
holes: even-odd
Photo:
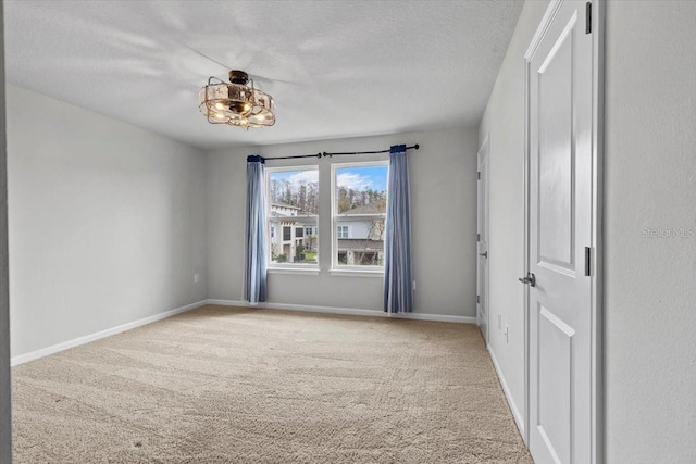
[(593, 227), (593, 39), (585, 1), (549, 8), (556, 13), (527, 54), (529, 446), (537, 464), (585, 464), (593, 462), (585, 268)]

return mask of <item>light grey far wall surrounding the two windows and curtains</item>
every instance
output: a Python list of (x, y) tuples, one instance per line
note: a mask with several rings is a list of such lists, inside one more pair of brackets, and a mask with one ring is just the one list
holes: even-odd
[[(394, 136), (219, 150), (208, 158), (208, 296), (243, 300), (246, 156), (279, 156), (322, 151), (380, 150), (420, 143), (409, 152), (413, 220), (414, 312), (475, 316), (476, 133), (437, 130)], [(388, 155), (360, 156), (361, 161)], [(316, 164), (319, 160), (269, 161), (269, 166)], [(269, 276), (269, 302), (361, 310), (382, 310), (382, 278), (328, 274), (332, 162), (320, 164), (321, 274)]]

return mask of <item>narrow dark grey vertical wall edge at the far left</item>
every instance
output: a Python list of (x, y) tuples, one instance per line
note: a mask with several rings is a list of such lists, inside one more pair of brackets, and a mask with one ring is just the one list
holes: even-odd
[[(4, 81), (3, 10), (0, 3), (0, 81)], [(12, 461), (10, 385), (10, 308), (8, 296), (8, 185), (4, 87), (0, 86), (0, 464)]]

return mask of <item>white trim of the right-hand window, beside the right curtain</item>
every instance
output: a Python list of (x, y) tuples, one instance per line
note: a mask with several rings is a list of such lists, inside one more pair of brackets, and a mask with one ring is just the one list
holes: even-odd
[[(336, 170), (344, 167), (369, 167), (369, 166), (387, 166), (387, 177), (389, 161), (362, 161), (356, 163), (334, 163), (331, 165), (331, 268), (328, 273), (332, 276), (343, 277), (381, 277), (384, 275), (384, 266), (361, 266), (338, 264), (338, 228), (340, 220), (345, 221), (349, 217), (345, 214), (336, 213)], [(387, 190), (387, 197), (389, 192)], [(382, 214), (364, 214), (357, 217), (382, 217)], [(384, 214), (386, 221), (386, 213)]]

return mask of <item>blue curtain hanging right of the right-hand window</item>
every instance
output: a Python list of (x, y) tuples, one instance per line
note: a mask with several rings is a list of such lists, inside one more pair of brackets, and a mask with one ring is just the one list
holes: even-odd
[(389, 150), (387, 217), (384, 241), (384, 311), (413, 311), (411, 284), (411, 205), (406, 146)]

